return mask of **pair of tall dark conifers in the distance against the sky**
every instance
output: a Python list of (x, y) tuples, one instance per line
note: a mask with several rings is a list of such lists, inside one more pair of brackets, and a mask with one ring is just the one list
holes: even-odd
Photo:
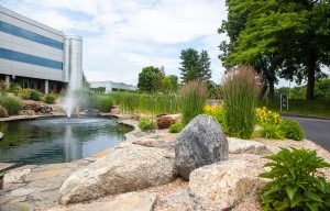
[(180, 55), (182, 81), (188, 82), (190, 80), (209, 80), (211, 78), (210, 58), (207, 51), (201, 51), (199, 54), (194, 48), (182, 51)]

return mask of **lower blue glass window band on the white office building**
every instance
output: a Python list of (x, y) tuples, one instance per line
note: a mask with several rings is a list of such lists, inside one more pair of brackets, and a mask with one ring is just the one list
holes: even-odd
[(61, 62), (51, 60), (47, 58), (42, 58), (30, 54), (23, 54), (6, 48), (0, 48), (0, 58), (63, 70), (63, 63)]

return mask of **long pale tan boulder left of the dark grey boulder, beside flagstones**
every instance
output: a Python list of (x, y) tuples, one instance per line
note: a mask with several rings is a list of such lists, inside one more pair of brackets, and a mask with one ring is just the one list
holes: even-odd
[(168, 184), (177, 176), (174, 160), (174, 153), (122, 143), (72, 174), (59, 189), (58, 202), (81, 202)]

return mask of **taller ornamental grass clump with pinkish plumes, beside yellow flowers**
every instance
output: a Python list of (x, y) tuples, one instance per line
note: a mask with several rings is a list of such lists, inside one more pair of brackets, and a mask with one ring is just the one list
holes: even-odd
[(223, 109), (227, 133), (251, 138), (256, 122), (258, 78), (250, 66), (231, 69), (223, 78)]

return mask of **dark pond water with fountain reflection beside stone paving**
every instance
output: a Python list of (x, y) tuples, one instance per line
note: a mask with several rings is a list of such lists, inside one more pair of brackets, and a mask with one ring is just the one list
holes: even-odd
[(66, 163), (91, 156), (124, 140), (131, 129), (110, 118), (55, 118), (1, 122), (0, 162)]

